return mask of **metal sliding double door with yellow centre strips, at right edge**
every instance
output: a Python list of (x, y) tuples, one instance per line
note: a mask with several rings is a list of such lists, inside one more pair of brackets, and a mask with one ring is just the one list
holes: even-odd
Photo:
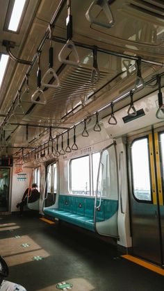
[(133, 254), (163, 266), (164, 133), (136, 138), (129, 149)]

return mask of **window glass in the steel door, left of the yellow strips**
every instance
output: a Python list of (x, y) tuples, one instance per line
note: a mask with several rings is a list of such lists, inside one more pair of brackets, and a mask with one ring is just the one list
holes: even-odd
[(136, 140), (133, 142), (132, 169), (133, 169), (133, 194), (139, 200), (151, 201), (150, 170), (148, 140)]

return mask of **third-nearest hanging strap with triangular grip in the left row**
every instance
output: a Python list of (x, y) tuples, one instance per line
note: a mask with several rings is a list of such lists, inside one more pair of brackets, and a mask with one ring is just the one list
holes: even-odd
[[(40, 52), (38, 52), (38, 71), (37, 71), (37, 90), (33, 93), (31, 97), (31, 102), (45, 105), (47, 103), (43, 91), (40, 89), (41, 86), (41, 69), (40, 69)], [(36, 98), (37, 97), (37, 98)]]

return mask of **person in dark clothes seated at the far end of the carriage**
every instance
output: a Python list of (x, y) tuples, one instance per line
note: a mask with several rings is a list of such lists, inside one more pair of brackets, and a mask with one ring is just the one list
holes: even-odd
[[(22, 197), (22, 201), (20, 203), (17, 203), (17, 208), (20, 209), (20, 213), (23, 213), (24, 206), (28, 203), (32, 203), (40, 199), (40, 192), (38, 191), (38, 185), (33, 183), (32, 188), (28, 190), (29, 188), (26, 189), (24, 192), (24, 195)], [(29, 196), (28, 196), (28, 191), (29, 191)]]

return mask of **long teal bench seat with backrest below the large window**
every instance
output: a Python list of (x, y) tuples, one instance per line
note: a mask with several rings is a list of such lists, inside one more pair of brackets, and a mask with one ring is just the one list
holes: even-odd
[[(97, 206), (99, 199), (97, 199)], [(58, 208), (53, 206), (44, 208), (44, 213), (50, 217), (56, 217), (65, 222), (75, 224), (95, 231), (94, 208), (95, 197), (77, 197), (73, 195), (59, 195)], [(96, 213), (96, 222), (104, 222), (109, 219), (118, 210), (118, 201), (112, 199), (101, 199), (101, 206)]]

